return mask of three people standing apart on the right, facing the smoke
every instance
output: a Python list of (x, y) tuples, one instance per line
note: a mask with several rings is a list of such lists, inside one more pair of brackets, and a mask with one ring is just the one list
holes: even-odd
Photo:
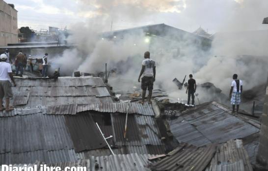
[[(147, 97), (148, 103), (152, 103), (152, 93), (154, 88), (154, 82), (156, 81), (156, 62), (150, 59), (150, 52), (144, 53), (144, 60), (141, 63), (141, 71), (138, 77), (138, 82), (141, 79), (141, 89), (142, 89), (142, 97), (141, 97), (141, 104), (144, 104), (146, 90), (148, 89), (149, 94)], [(143, 77), (142, 77), (143, 76)], [(142, 78), (141, 78), (142, 77)], [(233, 106), (233, 113), (235, 112), (235, 107), (237, 106), (237, 112), (239, 111), (239, 105), (241, 104), (241, 92), (242, 92), (242, 81), (238, 80), (238, 75), (233, 75), (233, 81), (231, 83), (230, 89), (230, 100)], [(194, 97), (196, 91), (196, 81), (193, 79), (192, 74), (189, 75), (188, 85), (186, 89), (186, 94), (188, 94), (188, 101), (187, 105), (190, 105), (190, 98), (191, 98), (191, 105), (194, 106)]]

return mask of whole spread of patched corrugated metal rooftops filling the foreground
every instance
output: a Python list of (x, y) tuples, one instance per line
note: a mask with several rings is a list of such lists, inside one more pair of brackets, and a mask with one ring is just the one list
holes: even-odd
[[(260, 121), (232, 114), (216, 102), (196, 107), (118, 102), (101, 78), (91, 76), (16, 82), (16, 109), (0, 112), (0, 165), (39, 161), (52, 166), (81, 164), (96, 171), (251, 171), (255, 162)], [(154, 95), (166, 96), (160, 90)], [(96, 123), (105, 137), (112, 136), (107, 142), (115, 155)]]

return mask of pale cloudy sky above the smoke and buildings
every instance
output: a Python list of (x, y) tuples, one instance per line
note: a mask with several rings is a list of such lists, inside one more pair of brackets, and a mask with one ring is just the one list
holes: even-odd
[(18, 26), (68, 29), (86, 22), (99, 31), (165, 23), (189, 32), (268, 29), (268, 0), (5, 0), (18, 10)]

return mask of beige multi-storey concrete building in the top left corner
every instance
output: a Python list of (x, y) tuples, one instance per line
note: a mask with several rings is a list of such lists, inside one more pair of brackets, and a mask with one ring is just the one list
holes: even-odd
[(17, 12), (13, 4), (0, 0), (0, 46), (18, 43)]

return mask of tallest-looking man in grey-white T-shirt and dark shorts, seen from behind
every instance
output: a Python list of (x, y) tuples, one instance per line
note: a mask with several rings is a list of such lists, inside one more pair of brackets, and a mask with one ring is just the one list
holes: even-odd
[(156, 62), (150, 59), (150, 52), (148, 51), (144, 53), (144, 58), (145, 60), (141, 63), (141, 71), (138, 77), (138, 82), (140, 82), (140, 77), (143, 75), (141, 78), (142, 99), (140, 103), (144, 104), (146, 90), (148, 88), (149, 95), (147, 100), (150, 104), (152, 103), (151, 98), (154, 89), (154, 82), (156, 81)]

